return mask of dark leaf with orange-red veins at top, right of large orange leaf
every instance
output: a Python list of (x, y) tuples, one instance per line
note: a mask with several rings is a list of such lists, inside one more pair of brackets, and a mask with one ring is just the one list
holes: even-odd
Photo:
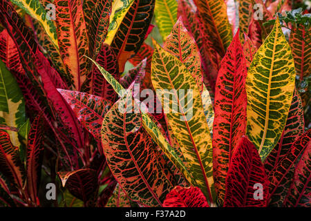
[(90, 57), (95, 58), (106, 39), (111, 15), (111, 0), (83, 1), (84, 19), (88, 28)]

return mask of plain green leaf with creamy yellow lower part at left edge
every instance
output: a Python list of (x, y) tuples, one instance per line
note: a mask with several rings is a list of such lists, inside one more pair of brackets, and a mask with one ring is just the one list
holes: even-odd
[[(0, 60), (0, 124), (20, 128), (26, 122), (25, 102), (13, 75)], [(7, 131), (12, 144), (19, 146), (16, 131)]]

